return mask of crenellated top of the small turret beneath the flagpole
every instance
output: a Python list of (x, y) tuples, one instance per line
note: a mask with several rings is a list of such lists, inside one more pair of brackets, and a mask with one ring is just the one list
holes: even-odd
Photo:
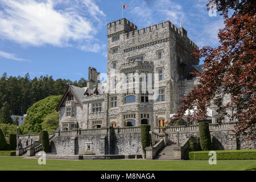
[(134, 30), (137, 30), (137, 26), (135, 26), (135, 24), (131, 23), (126, 18), (122, 18), (112, 23), (108, 23), (107, 36), (115, 34), (120, 31), (130, 32)]

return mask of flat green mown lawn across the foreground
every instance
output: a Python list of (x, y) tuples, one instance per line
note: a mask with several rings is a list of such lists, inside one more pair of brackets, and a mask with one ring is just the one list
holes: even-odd
[(255, 170), (256, 160), (52, 160), (39, 165), (37, 159), (0, 156), (0, 170)]

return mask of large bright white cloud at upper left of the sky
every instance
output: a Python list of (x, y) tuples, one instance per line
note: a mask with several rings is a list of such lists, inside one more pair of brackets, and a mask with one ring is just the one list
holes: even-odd
[[(97, 16), (105, 16), (93, 0), (76, 1), (85, 3), (89, 15), (80, 14), (77, 5), (68, 6), (72, 1), (65, 1), (67, 8), (55, 9), (62, 1), (2, 0), (0, 10), (0, 36), (4, 39), (28, 46), (46, 44), (64, 47), (84, 45), (94, 40), (96, 31), (93, 23)], [(63, 4), (64, 6), (64, 4)], [(95, 20), (96, 19), (96, 20)], [(95, 52), (95, 48), (92, 50)], [(90, 51), (87, 49), (86, 51)]]

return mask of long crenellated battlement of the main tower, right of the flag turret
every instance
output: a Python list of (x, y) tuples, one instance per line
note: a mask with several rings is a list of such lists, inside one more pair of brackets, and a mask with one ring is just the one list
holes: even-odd
[(190, 49), (198, 49), (195, 43), (193, 43), (187, 37), (187, 31), (183, 28), (177, 28), (169, 20), (160, 22), (158, 24), (153, 24), (152, 26), (147, 26), (140, 28), (139, 30), (133, 30), (123, 34), (124, 36), (124, 45), (126, 48), (131, 46), (138, 46), (146, 42), (154, 42), (162, 39), (170, 38), (176, 42), (183, 42)]

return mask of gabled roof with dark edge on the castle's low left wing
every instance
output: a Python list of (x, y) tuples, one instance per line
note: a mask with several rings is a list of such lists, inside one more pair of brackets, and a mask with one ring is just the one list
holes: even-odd
[(63, 94), (59, 104), (56, 107), (56, 110), (59, 111), (60, 110), (60, 106), (63, 104), (65, 97), (67, 96), (67, 94), (69, 92), (71, 92), (73, 94), (73, 96), (76, 98), (77, 102), (79, 103), (79, 105), (82, 107), (82, 96), (84, 95), (85, 92), (85, 88), (80, 88), (74, 85), (69, 85), (67, 90), (65, 91), (65, 93)]

